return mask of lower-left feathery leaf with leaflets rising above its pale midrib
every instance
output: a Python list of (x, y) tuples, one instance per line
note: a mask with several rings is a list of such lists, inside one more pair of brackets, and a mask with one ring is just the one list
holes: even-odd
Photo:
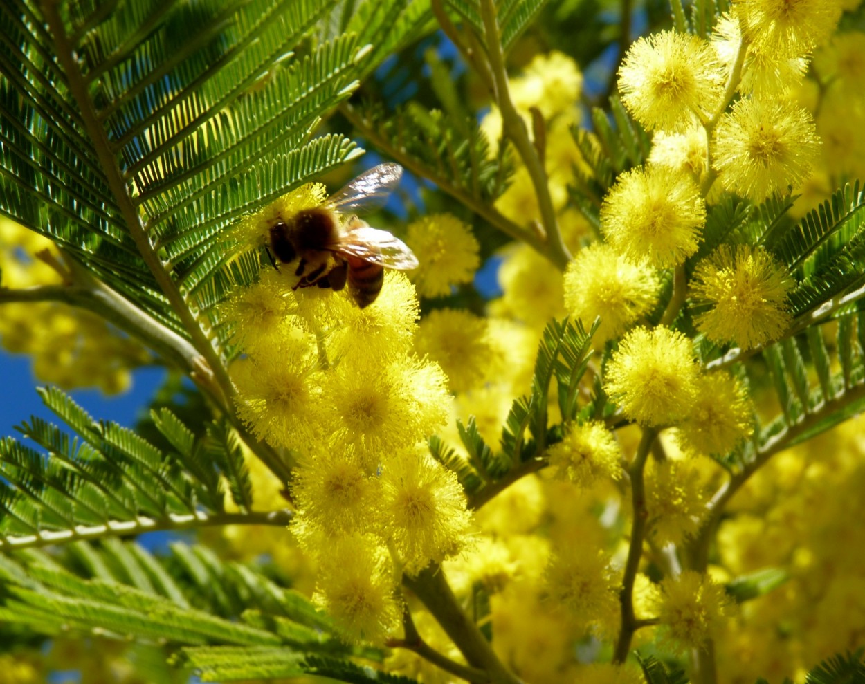
[(0, 548), (207, 524), (212, 515), (227, 515), (223, 478), (241, 508), (231, 514), (236, 521), (267, 515), (248, 512), (251, 483), (240, 445), (225, 427), (211, 432), (209, 451), (194, 442), (189, 448), (191, 432), (163, 410), (157, 424), (183, 448), (163, 453), (133, 431), (96, 423), (57, 389), (42, 396), (83, 441), (39, 418), (18, 429), (47, 453), (0, 440)]

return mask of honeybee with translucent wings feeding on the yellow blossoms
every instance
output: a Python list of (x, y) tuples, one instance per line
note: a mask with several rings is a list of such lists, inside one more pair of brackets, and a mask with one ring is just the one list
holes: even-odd
[(331, 195), (321, 207), (279, 216), (267, 235), (272, 264), (296, 265), (298, 287), (329, 287), (349, 295), (363, 309), (375, 302), (384, 281), (384, 269), (411, 271), (418, 259), (402, 241), (385, 230), (369, 226), (348, 211), (374, 208), (387, 199), (400, 182), (402, 167), (383, 163), (365, 171)]

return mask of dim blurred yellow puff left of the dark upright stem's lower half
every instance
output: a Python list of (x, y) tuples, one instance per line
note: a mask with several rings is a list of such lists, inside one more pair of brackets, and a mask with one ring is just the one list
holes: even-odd
[(563, 549), (547, 566), (549, 599), (563, 606), (580, 623), (602, 634), (618, 628), (618, 576), (606, 553), (586, 552), (581, 547)]

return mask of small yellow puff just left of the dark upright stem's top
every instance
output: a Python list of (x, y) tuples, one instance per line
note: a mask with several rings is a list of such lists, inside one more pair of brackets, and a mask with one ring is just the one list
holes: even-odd
[(603, 423), (573, 425), (565, 438), (549, 448), (556, 476), (588, 489), (601, 477), (622, 476), (622, 450)]

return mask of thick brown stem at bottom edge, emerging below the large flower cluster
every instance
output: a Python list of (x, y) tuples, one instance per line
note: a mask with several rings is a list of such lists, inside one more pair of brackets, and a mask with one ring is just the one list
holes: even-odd
[(403, 585), (413, 591), (438, 621), (472, 668), (484, 671), (491, 684), (522, 684), (505, 668), (481, 630), (466, 614), (447, 584), (445, 573), (433, 564), (417, 577), (403, 575)]

